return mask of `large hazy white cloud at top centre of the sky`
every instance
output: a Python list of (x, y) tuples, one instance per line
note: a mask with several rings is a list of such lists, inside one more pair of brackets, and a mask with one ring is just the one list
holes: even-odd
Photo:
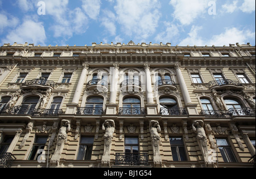
[(126, 35), (144, 40), (154, 34), (160, 18), (158, 0), (122, 0), (114, 6), (117, 22)]

